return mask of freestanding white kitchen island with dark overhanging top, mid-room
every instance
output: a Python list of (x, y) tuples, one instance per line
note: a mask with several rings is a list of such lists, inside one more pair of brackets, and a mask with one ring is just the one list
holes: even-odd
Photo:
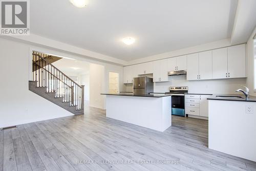
[(106, 117), (165, 131), (172, 125), (170, 95), (165, 94), (108, 94), (106, 95)]

